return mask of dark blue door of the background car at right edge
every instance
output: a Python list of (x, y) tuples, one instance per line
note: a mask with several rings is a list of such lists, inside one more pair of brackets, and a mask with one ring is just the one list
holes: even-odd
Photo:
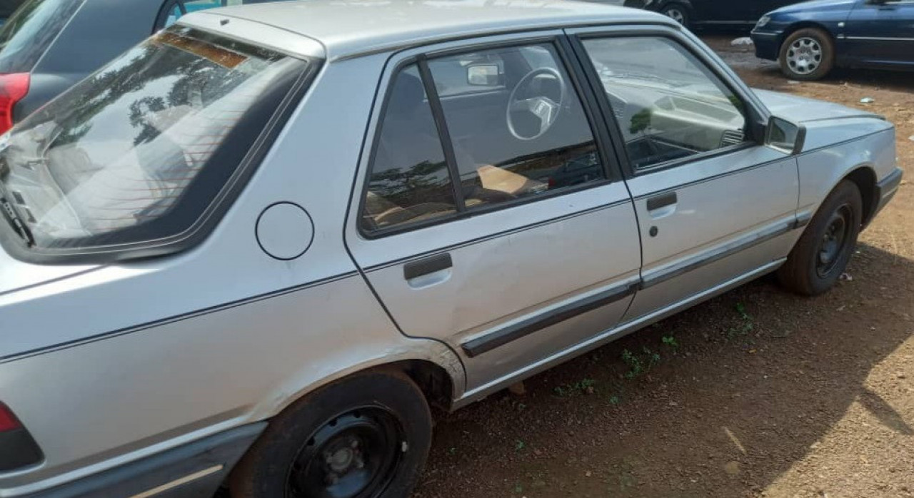
[(888, 69), (914, 65), (914, 0), (860, 0), (845, 22), (845, 57)]

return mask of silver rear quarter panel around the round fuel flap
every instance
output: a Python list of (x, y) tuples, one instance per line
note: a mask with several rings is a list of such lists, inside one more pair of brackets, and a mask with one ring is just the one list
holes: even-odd
[[(47, 460), (0, 474), (28, 495), (208, 434), (268, 419), (356, 370), (405, 359), (451, 374), (446, 346), (399, 333), (343, 243), (368, 112), (386, 55), (322, 69), (250, 184), (195, 249), (0, 293), (0, 397)], [(318, 180), (319, 178), (319, 180)], [(293, 202), (310, 249), (275, 260), (255, 227)]]

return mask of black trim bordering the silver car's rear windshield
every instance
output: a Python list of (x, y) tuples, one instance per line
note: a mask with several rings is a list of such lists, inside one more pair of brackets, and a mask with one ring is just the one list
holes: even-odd
[[(225, 37), (224, 34), (219, 36)], [(231, 38), (235, 41), (236, 38)], [(242, 43), (247, 43), (243, 42)], [(292, 56), (287, 56), (292, 57)], [(304, 58), (300, 58), (305, 60)], [(36, 249), (27, 247), (25, 241), (6, 223), (0, 220), (0, 247), (16, 260), (36, 264), (106, 264), (122, 260), (137, 260), (165, 256), (183, 252), (202, 243), (218, 226), (228, 209), (241, 195), (250, 178), (260, 168), (263, 159), (276, 142), (282, 129), (292, 117), (292, 113), (303, 100), (314, 79), (324, 69), (324, 59), (308, 58), (308, 64), (294, 76), (292, 86), (282, 97), (263, 130), (254, 138), (250, 149), (239, 160), (235, 172), (228, 177), (225, 185), (213, 197), (209, 206), (186, 230), (165, 238), (155, 238), (137, 242), (121, 243), (109, 246), (66, 249)]]

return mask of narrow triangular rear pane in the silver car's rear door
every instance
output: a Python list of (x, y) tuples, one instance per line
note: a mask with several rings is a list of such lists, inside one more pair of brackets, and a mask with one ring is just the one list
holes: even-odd
[(419, 70), (400, 71), (390, 90), (368, 179), (363, 228), (372, 230), (455, 211), (448, 166)]

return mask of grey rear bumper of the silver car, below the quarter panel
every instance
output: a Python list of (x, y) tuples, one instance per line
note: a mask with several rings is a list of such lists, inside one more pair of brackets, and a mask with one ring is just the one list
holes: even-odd
[(31, 494), (30, 498), (211, 498), (235, 462), (266, 427), (266, 422), (259, 422), (230, 429), (79, 481)]

